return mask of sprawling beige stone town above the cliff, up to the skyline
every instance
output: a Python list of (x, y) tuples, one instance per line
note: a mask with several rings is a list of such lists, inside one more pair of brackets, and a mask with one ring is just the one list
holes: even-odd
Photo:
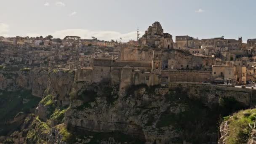
[(112, 84), (168, 82), (246, 85), (256, 80), (256, 39), (198, 39), (164, 33), (159, 22), (138, 41), (47, 37), (0, 37), (0, 64), (5, 67), (75, 69), (77, 81)]

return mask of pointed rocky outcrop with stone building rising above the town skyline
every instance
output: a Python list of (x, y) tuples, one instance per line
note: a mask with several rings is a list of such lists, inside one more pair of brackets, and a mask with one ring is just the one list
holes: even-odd
[(173, 36), (168, 33), (163, 33), (161, 24), (156, 21), (152, 26), (149, 26), (145, 34), (139, 38), (139, 45), (147, 45), (153, 48), (167, 48), (175, 47)]

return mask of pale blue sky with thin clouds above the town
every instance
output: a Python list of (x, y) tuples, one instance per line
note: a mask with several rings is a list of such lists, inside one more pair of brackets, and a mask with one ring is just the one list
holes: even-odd
[(136, 40), (155, 21), (165, 33), (256, 38), (256, 0), (0, 0), (0, 36), (76, 35)]

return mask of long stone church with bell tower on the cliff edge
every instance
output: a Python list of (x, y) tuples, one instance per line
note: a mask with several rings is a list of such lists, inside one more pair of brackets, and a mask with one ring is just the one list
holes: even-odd
[(113, 59), (94, 59), (92, 67), (77, 70), (78, 81), (101, 82), (110, 81), (113, 85), (120, 85), (125, 90), (130, 85), (160, 84), (161, 64), (157, 54), (152, 61), (120, 61)]

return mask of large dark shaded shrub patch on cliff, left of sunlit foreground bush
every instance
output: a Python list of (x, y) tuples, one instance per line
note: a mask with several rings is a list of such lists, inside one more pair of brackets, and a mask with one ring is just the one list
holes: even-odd
[(177, 132), (181, 132), (181, 140), (186, 139), (193, 144), (208, 141), (206, 133), (217, 133), (220, 116), (225, 117), (237, 109), (245, 108), (231, 97), (223, 97), (219, 99), (219, 104), (212, 104), (209, 107), (204, 104), (203, 97), (193, 99), (181, 87), (165, 94), (165, 101), (169, 102), (170, 107), (179, 107), (178, 112), (170, 112), (167, 108), (161, 114), (156, 127), (161, 130), (171, 125)]

